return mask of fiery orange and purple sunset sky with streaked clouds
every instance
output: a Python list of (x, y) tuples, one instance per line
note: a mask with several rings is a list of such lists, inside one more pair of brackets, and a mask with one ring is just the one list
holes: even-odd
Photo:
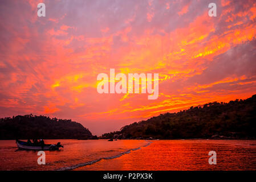
[[(256, 93), (253, 0), (2, 0), (0, 19), (0, 117), (72, 119), (101, 135)], [(98, 93), (111, 68), (159, 73), (159, 97)]]

